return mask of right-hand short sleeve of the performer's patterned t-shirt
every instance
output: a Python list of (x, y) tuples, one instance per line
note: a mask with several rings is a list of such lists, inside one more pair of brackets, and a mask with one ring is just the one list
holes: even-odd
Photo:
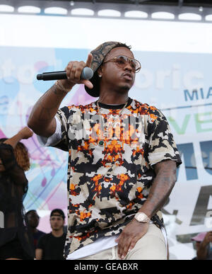
[(148, 162), (153, 166), (167, 159), (176, 161), (177, 166), (182, 164), (170, 125), (165, 116), (160, 113), (160, 116), (151, 126), (148, 144)]

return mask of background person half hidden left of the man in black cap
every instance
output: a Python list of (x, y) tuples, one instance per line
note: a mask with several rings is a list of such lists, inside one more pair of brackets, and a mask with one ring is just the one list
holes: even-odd
[(36, 249), (37, 241), (40, 239), (42, 235), (45, 235), (46, 233), (37, 229), (39, 225), (40, 217), (38, 216), (36, 210), (29, 210), (28, 212), (26, 212), (25, 217), (28, 219), (30, 232), (33, 234), (33, 241)]

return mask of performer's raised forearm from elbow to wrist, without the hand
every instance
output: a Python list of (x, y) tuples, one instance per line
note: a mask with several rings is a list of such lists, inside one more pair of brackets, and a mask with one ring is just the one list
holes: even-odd
[(30, 113), (28, 127), (37, 135), (44, 137), (51, 136), (56, 128), (54, 115), (57, 113), (59, 105), (66, 94), (65, 91), (58, 89), (56, 85), (52, 86), (37, 103), (35, 103)]

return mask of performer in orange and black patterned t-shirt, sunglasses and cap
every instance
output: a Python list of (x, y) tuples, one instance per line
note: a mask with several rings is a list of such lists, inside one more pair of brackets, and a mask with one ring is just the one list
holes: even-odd
[[(163, 113), (129, 97), (140, 69), (131, 47), (104, 42), (30, 113), (40, 144), (69, 152), (67, 259), (167, 259), (160, 209), (181, 159)], [(59, 109), (76, 84), (98, 101)]]

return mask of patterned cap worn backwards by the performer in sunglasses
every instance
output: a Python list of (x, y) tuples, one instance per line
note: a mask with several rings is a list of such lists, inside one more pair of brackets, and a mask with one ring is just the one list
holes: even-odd
[(99, 45), (95, 50), (92, 50), (90, 52), (93, 55), (93, 60), (90, 65), (90, 68), (93, 69), (93, 77), (90, 79), (91, 83), (93, 84), (93, 89), (88, 89), (87, 86), (85, 86), (85, 89), (87, 93), (90, 96), (93, 97), (99, 97), (100, 96), (100, 86), (99, 86), (99, 77), (97, 70), (102, 64), (103, 60), (105, 59), (106, 55), (110, 50), (112, 50), (114, 47), (117, 47), (117, 45), (123, 45), (122, 42), (103, 42), (103, 44)]

